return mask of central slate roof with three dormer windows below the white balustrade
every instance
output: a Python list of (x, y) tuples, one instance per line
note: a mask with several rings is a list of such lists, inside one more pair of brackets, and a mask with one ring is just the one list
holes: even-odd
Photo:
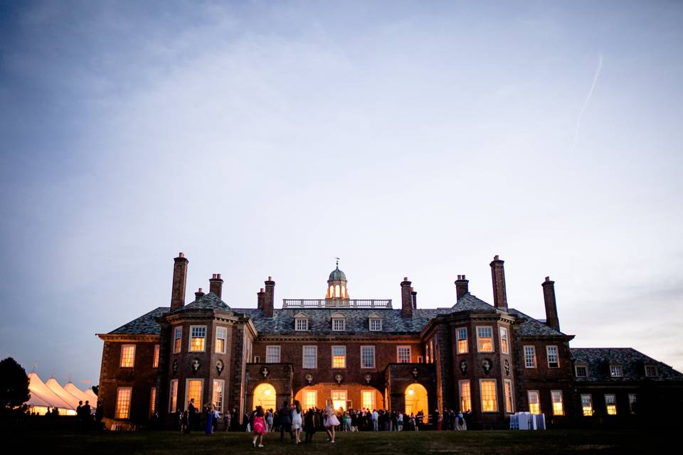
[[(386, 333), (420, 333), (427, 323), (438, 314), (448, 313), (448, 309), (414, 309), (412, 319), (403, 319), (398, 309), (339, 309), (339, 308), (292, 308), (274, 309), (272, 318), (263, 317), (263, 311), (255, 308), (233, 309), (237, 313), (251, 317), (258, 333), (298, 333), (294, 330), (297, 314), (308, 317), (308, 332), (334, 335), (353, 335), (364, 333), (381, 335)], [(332, 331), (332, 314), (341, 313), (346, 318), (346, 330)], [(370, 331), (369, 318), (377, 314), (382, 319), (382, 331)]]

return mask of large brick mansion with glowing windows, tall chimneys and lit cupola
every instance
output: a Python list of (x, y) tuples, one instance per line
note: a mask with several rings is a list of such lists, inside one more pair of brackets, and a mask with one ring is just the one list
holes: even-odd
[[(185, 304), (188, 259), (174, 259), (171, 306), (111, 331), (104, 341), (100, 401), (105, 422), (164, 422), (191, 398), (233, 407), (404, 412), (471, 410), (471, 425), (505, 427), (512, 412), (543, 412), (549, 426), (625, 422), (683, 397), (683, 375), (630, 348), (570, 348), (560, 329), (554, 282), (541, 283), (545, 319), (509, 308), (503, 261), (490, 263), (493, 305), (455, 281), (454, 304), (420, 309), (411, 282), (401, 303), (351, 299), (335, 268), (324, 299), (284, 299), (270, 277), (256, 308), (223, 301), (223, 279)], [(226, 299), (230, 301), (230, 299)]]

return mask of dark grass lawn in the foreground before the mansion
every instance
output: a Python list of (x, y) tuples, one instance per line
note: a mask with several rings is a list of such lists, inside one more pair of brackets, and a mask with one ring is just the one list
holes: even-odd
[[(31, 432), (16, 434), (25, 449), (47, 454), (624, 454), (677, 451), (673, 432), (647, 430), (549, 430), (545, 432), (401, 432), (342, 433), (337, 442), (315, 434), (312, 444), (280, 443), (279, 434), (264, 437), (253, 449), (250, 434), (179, 432), (90, 433)], [(287, 438), (289, 438), (287, 436)], [(25, 444), (25, 445), (24, 445)]]

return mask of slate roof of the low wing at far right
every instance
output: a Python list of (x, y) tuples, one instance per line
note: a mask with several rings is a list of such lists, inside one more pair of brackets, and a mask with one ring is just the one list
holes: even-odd
[[(577, 382), (644, 380), (645, 365), (657, 366), (657, 377), (648, 380), (683, 380), (683, 373), (633, 348), (571, 348), (570, 351), (576, 364), (588, 365), (588, 376), (576, 378)], [(621, 365), (623, 378), (612, 378), (610, 365)]]

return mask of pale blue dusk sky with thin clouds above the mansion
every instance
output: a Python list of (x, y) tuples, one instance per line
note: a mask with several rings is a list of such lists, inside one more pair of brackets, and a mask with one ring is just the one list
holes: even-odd
[(683, 3), (0, 0), (0, 358), (186, 303), (489, 303), (683, 370)]

